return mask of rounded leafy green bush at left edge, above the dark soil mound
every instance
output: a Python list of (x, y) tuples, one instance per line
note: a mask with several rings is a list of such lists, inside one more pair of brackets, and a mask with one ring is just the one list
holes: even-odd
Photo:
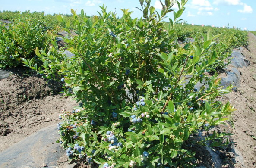
[(18, 66), (21, 57), (33, 58), (36, 47), (49, 44), (47, 31), (53, 30), (54, 24), (47, 22), (40, 12), (19, 14), (8, 25), (0, 23), (0, 68)]

